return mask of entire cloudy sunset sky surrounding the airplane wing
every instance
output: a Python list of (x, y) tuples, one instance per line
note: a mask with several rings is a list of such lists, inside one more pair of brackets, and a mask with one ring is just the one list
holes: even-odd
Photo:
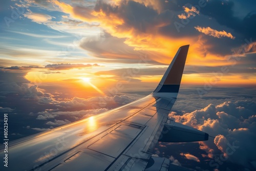
[[(256, 142), (255, 6), (253, 0), (1, 1), (0, 113), (11, 114), (11, 138), (150, 94), (179, 47), (190, 45), (169, 116), (216, 138), (186, 147), (160, 143), (155, 155), (196, 170), (256, 169), (248, 153)], [(232, 143), (239, 148), (228, 155)], [(217, 162), (220, 155), (227, 159)]]

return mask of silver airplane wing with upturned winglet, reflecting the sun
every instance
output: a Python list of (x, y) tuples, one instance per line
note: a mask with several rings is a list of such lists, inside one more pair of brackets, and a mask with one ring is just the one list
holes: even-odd
[[(4, 170), (184, 170), (152, 157), (161, 142), (208, 140), (208, 134), (175, 122), (176, 101), (189, 45), (179, 48), (156, 90), (108, 112), (8, 144)], [(1, 158), (5, 157), (1, 146)], [(3, 159), (3, 158), (2, 158)], [(1, 169), (3, 170), (3, 169)]]

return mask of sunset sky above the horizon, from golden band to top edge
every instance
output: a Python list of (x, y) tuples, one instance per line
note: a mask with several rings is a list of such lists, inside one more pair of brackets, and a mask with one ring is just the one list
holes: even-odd
[(254, 1), (1, 3), (1, 71), (31, 83), (158, 82), (187, 44), (182, 83), (256, 83)]

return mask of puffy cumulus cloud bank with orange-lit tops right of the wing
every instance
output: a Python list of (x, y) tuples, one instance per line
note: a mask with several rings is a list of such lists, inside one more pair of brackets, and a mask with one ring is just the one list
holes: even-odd
[(256, 103), (252, 100), (226, 101), (183, 115), (170, 113), (170, 117), (215, 137), (214, 141), (209, 138), (199, 142), (200, 148), (212, 160), (222, 153), (225, 161), (251, 169), (251, 162), (256, 161), (252, 155), (256, 153), (253, 145), (256, 139), (255, 108)]

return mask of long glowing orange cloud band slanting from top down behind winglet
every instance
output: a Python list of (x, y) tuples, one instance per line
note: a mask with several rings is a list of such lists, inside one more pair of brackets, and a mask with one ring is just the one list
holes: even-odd
[[(130, 49), (129, 52), (134, 51), (132, 52), (134, 54), (142, 52), (153, 61), (168, 65), (171, 57), (175, 55), (180, 46), (190, 44), (193, 46), (190, 46), (189, 48), (187, 65), (214, 66), (219, 63), (220, 60), (224, 62), (223, 65), (228, 64), (222, 57), (208, 54), (207, 49), (210, 45), (205, 44), (200, 37), (190, 36), (177, 39), (176, 37), (160, 34), (159, 30), (164, 26), (170, 25), (170, 20), (159, 16), (158, 12), (153, 10), (153, 8), (147, 8), (147, 6), (152, 6), (152, 1), (146, 1), (144, 4), (123, 1), (115, 1), (108, 4), (97, 2), (94, 9), (89, 9), (88, 7), (71, 7), (63, 2), (60, 3), (57, 0), (53, 2), (54, 5), (57, 5), (63, 12), (69, 13), (75, 19), (92, 24), (98, 23), (99, 26), (110, 33), (111, 36), (122, 38), (122, 43), (133, 48), (132, 50)], [(135, 4), (131, 5), (129, 3)], [(134, 7), (134, 5), (137, 5), (142, 10), (148, 10), (154, 17), (141, 16), (143, 18), (142, 20), (133, 18), (134, 14), (130, 11), (130, 8)], [(184, 7), (184, 10), (186, 13), (193, 12), (199, 14), (199, 11), (197, 11), (195, 7), (192, 7), (191, 9)], [(108, 53), (108, 51), (100, 54), (107, 56), (108, 58), (120, 56), (119, 54)], [(205, 59), (202, 58), (205, 57), (206, 54), (208, 56), (208, 61), (205, 61)], [(92, 55), (97, 56), (97, 54)], [(130, 58), (129, 55), (122, 57)]]

